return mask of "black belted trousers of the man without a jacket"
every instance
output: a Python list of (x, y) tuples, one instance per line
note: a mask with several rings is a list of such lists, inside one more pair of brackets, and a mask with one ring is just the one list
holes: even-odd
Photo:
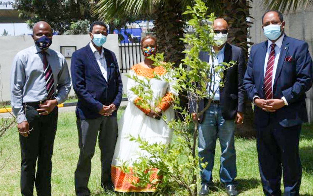
[(33, 196), (34, 183), (38, 196), (51, 196), (51, 158), (57, 129), (58, 107), (55, 107), (50, 114), (40, 116), (36, 111), (38, 104), (29, 103), (24, 106), (29, 129), (33, 130), (28, 137), (19, 136), (23, 196)]

